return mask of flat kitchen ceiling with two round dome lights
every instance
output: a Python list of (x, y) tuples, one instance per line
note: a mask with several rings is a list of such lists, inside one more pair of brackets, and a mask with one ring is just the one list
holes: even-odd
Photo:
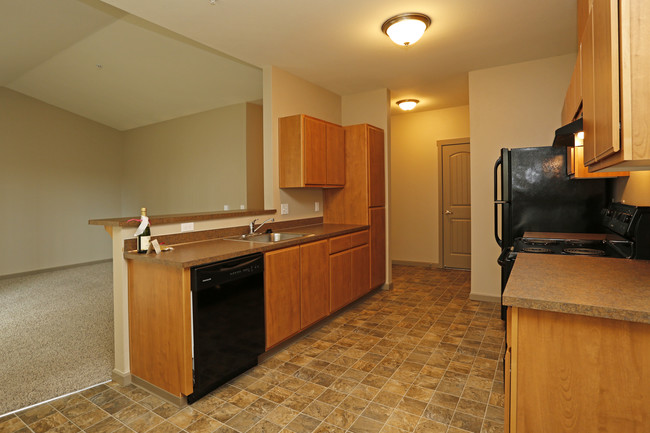
[[(389, 88), (416, 110), (469, 103), (468, 71), (577, 50), (575, 0), (102, 1), (340, 95)], [(380, 30), (403, 12), (433, 21), (409, 48)]]

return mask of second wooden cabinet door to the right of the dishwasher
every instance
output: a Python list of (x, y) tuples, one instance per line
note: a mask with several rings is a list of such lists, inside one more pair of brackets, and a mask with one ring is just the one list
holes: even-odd
[(329, 247), (327, 240), (300, 247), (301, 315), (305, 328), (330, 312)]

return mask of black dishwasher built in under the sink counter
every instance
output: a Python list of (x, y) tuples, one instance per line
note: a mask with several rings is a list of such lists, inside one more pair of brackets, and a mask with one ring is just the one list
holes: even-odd
[(265, 349), (264, 256), (191, 269), (194, 403), (257, 365)]

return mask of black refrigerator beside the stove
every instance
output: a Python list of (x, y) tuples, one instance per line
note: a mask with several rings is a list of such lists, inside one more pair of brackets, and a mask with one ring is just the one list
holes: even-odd
[(494, 165), (494, 236), (501, 247), (501, 293), (513, 265), (503, 257), (516, 238), (526, 231), (602, 233), (600, 211), (609, 197), (606, 179), (567, 175), (565, 147), (501, 149)]

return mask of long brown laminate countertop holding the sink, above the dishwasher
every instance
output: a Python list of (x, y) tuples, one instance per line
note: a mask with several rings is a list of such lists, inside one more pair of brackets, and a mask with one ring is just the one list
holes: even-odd
[(368, 229), (368, 226), (353, 224), (316, 224), (310, 226), (283, 228), (276, 230), (282, 233), (305, 233), (308, 236), (280, 242), (251, 242), (241, 240), (228, 240), (225, 238), (209, 239), (198, 242), (171, 245), (173, 250), (163, 251), (160, 254), (138, 254), (135, 251), (124, 252), (128, 260), (143, 260), (167, 266), (189, 268), (207, 263), (241, 257), (247, 254), (267, 252), (327, 239), (334, 236), (345, 235)]

